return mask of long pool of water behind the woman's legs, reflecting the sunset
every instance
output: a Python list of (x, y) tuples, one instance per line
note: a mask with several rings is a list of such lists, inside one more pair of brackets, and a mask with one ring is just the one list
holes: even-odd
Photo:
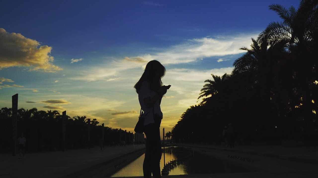
[[(160, 162), (161, 169), (163, 169), (166, 164), (176, 160), (169, 168), (169, 175), (255, 172), (255, 170), (217, 160), (203, 152), (192, 151), (183, 147), (170, 147), (163, 150)], [(143, 154), (110, 177), (143, 176), (142, 164), (144, 157), (145, 155)], [(105, 176), (109, 177), (109, 175)]]

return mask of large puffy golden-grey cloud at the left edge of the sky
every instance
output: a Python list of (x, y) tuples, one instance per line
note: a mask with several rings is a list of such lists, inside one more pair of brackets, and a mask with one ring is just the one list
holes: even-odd
[(52, 64), (52, 47), (41, 46), (17, 33), (8, 33), (0, 28), (0, 69), (7, 67), (29, 67), (30, 71), (56, 72), (62, 68)]

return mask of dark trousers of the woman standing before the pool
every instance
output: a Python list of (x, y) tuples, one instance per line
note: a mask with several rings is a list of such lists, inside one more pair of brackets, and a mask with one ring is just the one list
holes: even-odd
[(143, 177), (151, 178), (151, 173), (154, 178), (161, 178), (160, 160), (162, 155), (160, 124), (161, 118), (154, 115), (155, 123), (144, 126), (146, 135), (146, 153), (143, 160)]

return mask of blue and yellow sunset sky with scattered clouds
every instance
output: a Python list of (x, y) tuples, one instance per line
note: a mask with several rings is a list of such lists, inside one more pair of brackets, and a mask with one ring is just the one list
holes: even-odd
[[(166, 67), (161, 128), (171, 131), (211, 74), (231, 73), (270, 22), (270, 4), (298, 0), (1, 1), (0, 108), (66, 111), (133, 132), (135, 83), (150, 60)], [(162, 135), (162, 134), (161, 134)]]

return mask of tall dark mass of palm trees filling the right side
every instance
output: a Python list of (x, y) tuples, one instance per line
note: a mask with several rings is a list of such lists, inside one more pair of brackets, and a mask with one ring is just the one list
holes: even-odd
[(298, 9), (269, 6), (282, 19), (271, 22), (235, 60), (231, 74), (207, 79), (199, 105), (172, 129), (183, 142), (220, 142), (232, 123), (242, 141), (317, 140), (318, 1)]

